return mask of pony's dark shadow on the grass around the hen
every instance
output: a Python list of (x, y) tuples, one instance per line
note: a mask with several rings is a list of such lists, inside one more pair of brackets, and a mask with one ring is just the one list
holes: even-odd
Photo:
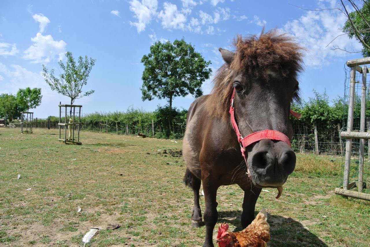
[[(255, 215), (257, 215), (257, 211)], [(231, 229), (233, 232), (243, 230), (240, 223), (240, 215), (242, 212), (237, 211), (219, 211), (218, 221), (227, 222), (236, 226)], [(301, 223), (292, 220), (292, 218), (285, 218), (280, 215), (271, 215), (268, 213), (267, 222), (270, 225), (271, 239), (268, 246), (285, 247), (285, 246), (322, 246), (327, 247), (322, 240), (315, 234), (311, 233)]]

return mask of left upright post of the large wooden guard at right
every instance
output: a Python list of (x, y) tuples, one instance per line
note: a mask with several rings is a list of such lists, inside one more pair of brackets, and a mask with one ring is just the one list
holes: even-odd
[[(356, 69), (354, 67), (351, 67), (347, 132), (352, 131), (352, 128), (353, 128), (353, 108), (354, 108), (355, 84), (356, 84)], [(352, 139), (349, 138), (349, 139), (346, 139), (346, 156), (344, 158), (343, 189), (347, 189), (348, 187), (350, 164), (351, 164), (351, 151), (352, 151)]]

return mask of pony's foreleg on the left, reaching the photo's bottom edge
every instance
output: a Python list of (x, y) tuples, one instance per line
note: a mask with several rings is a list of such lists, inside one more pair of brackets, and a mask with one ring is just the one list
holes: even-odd
[(217, 212), (217, 202), (216, 194), (218, 186), (216, 182), (210, 179), (211, 175), (203, 177), (202, 174), (202, 183), (204, 198), (206, 203), (206, 209), (204, 211), (204, 223), (206, 225), (206, 237), (203, 244), (203, 247), (213, 247), (213, 229), (215, 228), (218, 212)]

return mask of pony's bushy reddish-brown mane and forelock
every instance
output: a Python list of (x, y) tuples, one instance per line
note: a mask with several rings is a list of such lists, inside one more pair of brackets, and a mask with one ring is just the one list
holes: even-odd
[(236, 36), (235, 57), (231, 64), (225, 63), (216, 72), (211, 95), (207, 100), (208, 112), (220, 117), (228, 117), (232, 95), (232, 79), (239, 73), (249, 77), (269, 79), (268, 70), (280, 77), (296, 78), (302, 70), (303, 48), (287, 34), (278, 34), (276, 29), (262, 30), (259, 36), (243, 38)]

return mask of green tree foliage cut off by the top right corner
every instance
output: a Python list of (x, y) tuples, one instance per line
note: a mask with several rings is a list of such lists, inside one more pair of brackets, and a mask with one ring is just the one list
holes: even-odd
[(370, 2), (363, 0), (363, 6), (359, 8), (353, 0), (348, 0), (354, 11), (348, 13), (346, 5), (341, 0), (344, 8), (343, 13), (347, 16), (344, 23), (343, 32), (346, 32), (350, 38), (356, 38), (363, 45), (362, 55), (370, 56)]

